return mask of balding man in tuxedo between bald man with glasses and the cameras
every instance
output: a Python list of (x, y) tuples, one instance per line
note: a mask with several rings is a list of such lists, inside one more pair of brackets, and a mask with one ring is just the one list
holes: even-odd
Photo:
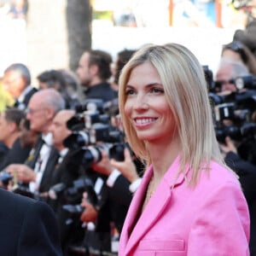
[(55, 211), (60, 227), (61, 247), (65, 254), (67, 247), (74, 241), (80, 240), (81, 233), (84, 233), (79, 222), (66, 224), (68, 212), (62, 209), (63, 205), (67, 204), (65, 190), (73, 185), (74, 180), (79, 178), (77, 171), (79, 165), (76, 165), (75, 161), (71, 161), (73, 152), (63, 144), (65, 138), (72, 134), (72, 131), (67, 128), (67, 120), (71, 119), (74, 114), (75, 111), (73, 110), (63, 109), (55, 114), (52, 125), (49, 126), (52, 143), (58, 150), (59, 157), (49, 179), (49, 190), (43, 193), (49, 206)]

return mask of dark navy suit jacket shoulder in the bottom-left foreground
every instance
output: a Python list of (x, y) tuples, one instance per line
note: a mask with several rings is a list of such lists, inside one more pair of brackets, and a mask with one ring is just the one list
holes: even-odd
[(55, 215), (47, 204), (0, 189), (0, 206), (0, 255), (62, 255)]

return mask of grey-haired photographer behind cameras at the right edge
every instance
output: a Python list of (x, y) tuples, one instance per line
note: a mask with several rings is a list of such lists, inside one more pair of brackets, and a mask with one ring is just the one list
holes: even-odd
[(256, 79), (241, 64), (226, 59), (221, 61), (216, 79), (217, 97), (213, 102), (218, 143), (246, 197), (251, 221), (250, 253), (256, 255)]

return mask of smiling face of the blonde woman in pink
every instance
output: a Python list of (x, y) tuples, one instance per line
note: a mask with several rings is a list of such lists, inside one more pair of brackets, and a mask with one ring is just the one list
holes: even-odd
[(175, 124), (159, 73), (149, 62), (135, 67), (125, 86), (125, 114), (143, 141), (172, 141)]

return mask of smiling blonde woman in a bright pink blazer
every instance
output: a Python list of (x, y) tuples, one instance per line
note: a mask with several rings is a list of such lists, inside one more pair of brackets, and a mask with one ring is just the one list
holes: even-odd
[(179, 44), (139, 49), (120, 75), (119, 110), (148, 164), (119, 256), (249, 255), (247, 202), (220, 154), (195, 55)]

